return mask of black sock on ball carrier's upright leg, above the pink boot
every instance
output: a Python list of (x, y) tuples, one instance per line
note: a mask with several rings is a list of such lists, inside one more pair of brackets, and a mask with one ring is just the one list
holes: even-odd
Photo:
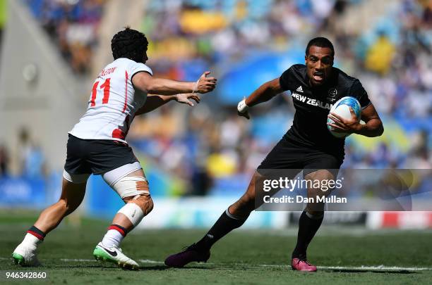
[(292, 252), (292, 258), (306, 260), (306, 250), (308, 245), (320, 228), (323, 219), (324, 214), (321, 217), (311, 218), (308, 217), (306, 211), (301, 213), (299, 220), (299, 234), (297, 234), (297, 244), (296, 248), (294, 248), (294, 251)]

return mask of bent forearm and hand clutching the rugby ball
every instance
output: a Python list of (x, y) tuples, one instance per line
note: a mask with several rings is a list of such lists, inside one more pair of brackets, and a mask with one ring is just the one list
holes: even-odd
[(379, 137), (384, 132), (383, 122), (381, 122), (380, 116), (376, 111), (373, 104), (370, 104), (364, 110), (361, 111), (361, 119), (366, 122), (362, 125), (358, 122), (354, 110), (350, 107), (352, 118), (344, 119), (335, 113), (330, 113), (328, 118), (332, 119), (334, 123), (328, 123), (337, 132), (350, 132), (354, 134), (361, 134), (365, 137)]

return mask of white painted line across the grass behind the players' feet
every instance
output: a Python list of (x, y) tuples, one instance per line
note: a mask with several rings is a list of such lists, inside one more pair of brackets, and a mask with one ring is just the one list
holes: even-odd
[[(11, 260), (11, 258), (1, 258), (0, 260)], [(65, 262), (97, 262), (94, 259), (73, 259), (73, 258), (61, 258), (61, 261)], [(140, 259), (138, 260), (142, 263), (152, 263), (152, 264), (164, 264), (163, 261), (150, 260), (150, 259)], [(204, 265), (215, 265), (215, 263), (207, 262)], [(234, 263), (234, 265), (246, 266), (246, 267), (289, 267), (289, 265), (275, 265), (275, 264), (257, 264), (257, 265), (247, 265), (244, 263)], [(424, 270), (432, 270), (432, 267), (399, 267), (399, 266), (317, 266), (320, 270), (408, 270), (408, 271), (424, 271)]]

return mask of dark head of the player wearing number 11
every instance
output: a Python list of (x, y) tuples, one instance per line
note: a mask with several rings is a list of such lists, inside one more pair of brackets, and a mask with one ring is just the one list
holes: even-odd
[(111, 40), (111, 50), (114, 60), (117, 58), (129, 58), (140, 63), (143, 61), (144, 52), (147, 49), (148, 40), (145, 34), (126, 27), (114, 34)]

